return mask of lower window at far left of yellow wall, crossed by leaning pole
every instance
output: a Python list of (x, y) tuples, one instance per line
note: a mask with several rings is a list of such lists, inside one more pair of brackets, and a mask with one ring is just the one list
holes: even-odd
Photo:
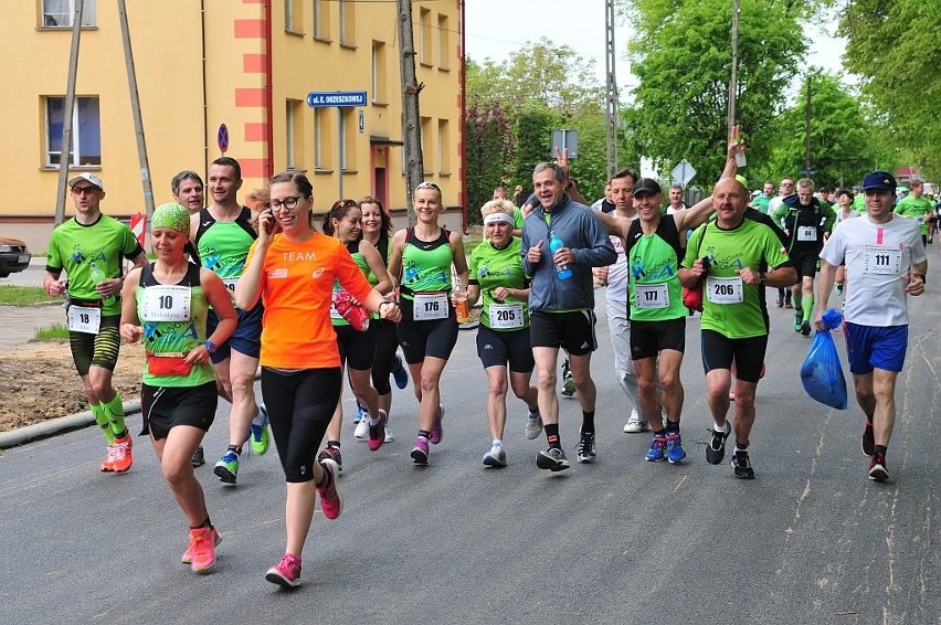
[[(65, 98), (45, 98), (45, 163), (59, 167), (62, 162), (62, 129), (65, 123)], [(76, 97), (72, 112), (72, 149), (68, 165), (73, 167), (102, 165), (102, 125), (98, 97)]]

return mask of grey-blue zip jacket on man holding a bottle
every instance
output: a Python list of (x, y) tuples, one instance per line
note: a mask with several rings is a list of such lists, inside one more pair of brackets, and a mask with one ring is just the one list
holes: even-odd
[[(549, 223), (546, 223), (546, 215)], [(563, 246), (575, 252), (572, 277), (556, 275), (556, 264), (549, 252), (549, 233), (554, 232)], [(542, 259), (531, 265), (526, 259), (530, 247), (542, 241)], [(617, 259), (607, 231), (594, 212), (562, 195), (562, 200), (546, 213), (536, 206), (522, 224), (522, 269), (532, 276), (529, 292), (530, 310), (569, 310), (594, 308), (592, 267), (606, 267)]]

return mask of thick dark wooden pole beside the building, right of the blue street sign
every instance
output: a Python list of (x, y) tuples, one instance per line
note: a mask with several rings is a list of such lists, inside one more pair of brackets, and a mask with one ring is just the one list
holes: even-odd
[(399, 41), (402, 45), (400, 56), (402, 74), (402, 141), (405, 159), (405, 198), (409, 210), (409, 225), (416, 223), (413, 197), (415, 187), (424, 178), (422, 158), (422, 125), (419, 115), (419, 94), (424, 84), (415, 77), (415, 42), (412, 33), (412, 0), (395, 0), (399, 11)]

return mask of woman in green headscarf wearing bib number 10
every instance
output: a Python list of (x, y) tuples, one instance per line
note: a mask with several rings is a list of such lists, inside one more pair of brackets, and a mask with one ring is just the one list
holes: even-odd
[[(150, 239), (157, 259), (127, 275), (120, 336), (127, 342), (144, 339), (140, 433), (150, 435), (160, 470), (190, 526), (182, 562), (195, 573), (208, 573), (222, 539), (209, 520), (190, 458), (215, 417), (215, 375), (209, 354), (235, 329), (235, 309), (219, 276), (187, 259), (189, 235), (186, 208), (173, 203), (154, 211)], [(209, 304), (219, 324), (207, 338)]]

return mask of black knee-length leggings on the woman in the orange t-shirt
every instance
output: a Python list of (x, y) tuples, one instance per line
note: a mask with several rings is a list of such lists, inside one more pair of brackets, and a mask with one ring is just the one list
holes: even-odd
[(262, 367), (262, 394), (289, 483), (314, 479), (314, 462), (340, 400), (340, 368), (284, 372)]

